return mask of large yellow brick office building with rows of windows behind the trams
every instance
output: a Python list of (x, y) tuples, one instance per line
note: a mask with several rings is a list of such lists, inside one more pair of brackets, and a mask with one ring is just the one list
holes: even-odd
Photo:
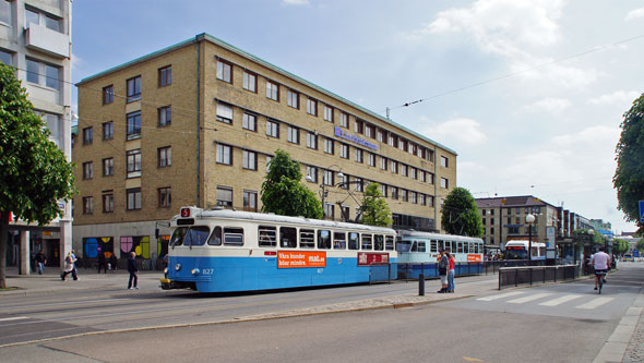
[(326, 184), (331, 219), (355, 220), (377, 182), (394, 228), (437, 230), (456, 185), (455, 152), (207, 34), (77, 87), (73, 239), (86, 257), (163, 255), (180, 206), (261, 210), (276, 149), (318, 195)]

